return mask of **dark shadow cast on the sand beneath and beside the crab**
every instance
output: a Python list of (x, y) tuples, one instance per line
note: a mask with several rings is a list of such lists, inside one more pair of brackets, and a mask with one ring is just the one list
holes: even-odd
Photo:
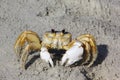
[[(97, 49), (98, 49), (98, 56), (97, 56), (97, 59), (94, 62), (92, 67), (101, 64), (108, 55), (108, 46), (107, 45), (105, 45), (105, 44), (97, 45)], [(51, 53), (54, 64), (56, 65), (57, 62), (61, 61), (61, 58), (63, 57), (63, 54), (66, 51), (65, 50), (50, 49), (49, 52)], [(30, 54), (33, 55), (34, 53), (35, 52), (31, 52)], [(32, 65), (38, 58), (40, 58), (39, 54), (34, 55), (32, 57), (32, 59), (29, 62), (27, 62), (25, 69), (27, 69), (30, 65)], [(82, 61), (78, 61), (78, 62), (74, 63), (73, 65), (71, 65), (70, 67), (80, 66), (81, 63), (82, 63)]]

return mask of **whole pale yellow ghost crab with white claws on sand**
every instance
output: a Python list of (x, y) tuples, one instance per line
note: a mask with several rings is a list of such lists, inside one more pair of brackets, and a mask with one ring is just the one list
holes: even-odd
[(82, 60), (82, 64), (89, 63), (87, 66), (90, 67), (98, 55), (96, 42), (92, 35), (83, 34), (72, 40), (71, 33), (65, 30), (55, 31), (54, 29), (45, 32), (42, 40), (37, 33), (30, 30), (24, 31), (17, 38), (14, 48), (24, 69), (31, 51), (40, 51), (40, 58), (52, 67), (54, 63), (48, 49), (66, 50), (61, 59), (61, 65), (64, 66), (70, 66)]

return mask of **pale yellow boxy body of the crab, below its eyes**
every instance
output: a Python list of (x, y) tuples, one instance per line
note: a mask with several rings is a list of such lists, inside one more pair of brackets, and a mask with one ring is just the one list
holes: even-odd
[(54, 49), (63, 49), (71, 42), (71, 34), (63, 32), (46, 32), (43, 35), (42, 46)]

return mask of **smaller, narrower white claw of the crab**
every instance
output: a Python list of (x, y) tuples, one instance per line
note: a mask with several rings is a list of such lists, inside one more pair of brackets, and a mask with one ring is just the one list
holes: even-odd
[(41, 48), (40, 57), (42, 60), (49, 63), (51, 67), (54, 67), (52, 58), (51, 58), (50, 53), (48, 52), (47, 48), (45, 48), (45, 47)]

